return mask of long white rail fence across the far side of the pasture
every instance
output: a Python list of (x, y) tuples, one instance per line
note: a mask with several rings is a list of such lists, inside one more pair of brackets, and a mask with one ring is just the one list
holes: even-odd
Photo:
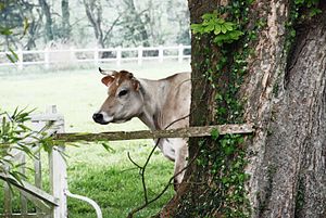
[[(23, 69), (28, 65), (43, 65), (49, 68), (51, 64), (74, 64), (74, 63), (115, 63), (117, 66), (122, 62), (135, 61), (138, 65), (146, 60), (177, 60), (179, 63), (190, 59), (190, 46), (174, 47), (137, 47), (137, 48), (109, 48), (109, 49), (49, 49), (29, 50), (22, 49), (14, 51), (17, 55), (16, 63), (11, 63), (5, 57), (10, 52), (0, 52), (0, 66), (17, 66)], [(7, 61), (5, 61), (7, 60)]]

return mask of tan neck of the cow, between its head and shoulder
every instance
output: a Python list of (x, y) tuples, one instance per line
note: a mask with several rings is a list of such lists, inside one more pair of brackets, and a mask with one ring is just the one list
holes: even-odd
[(143, 98), (142, 113), (138, 117), (151, 130), (162, 129), (161, 108), (166, 101), (167, 84), (164, 80), (139, 79), (140, 92)]

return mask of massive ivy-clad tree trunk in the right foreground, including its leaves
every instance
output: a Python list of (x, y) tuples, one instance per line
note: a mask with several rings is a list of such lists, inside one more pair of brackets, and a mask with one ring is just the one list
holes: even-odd
[(190, 140), (197, 162), (161, 216), (325, 217), (326, 3), (188, 3), (191, 125), (256, 130)]

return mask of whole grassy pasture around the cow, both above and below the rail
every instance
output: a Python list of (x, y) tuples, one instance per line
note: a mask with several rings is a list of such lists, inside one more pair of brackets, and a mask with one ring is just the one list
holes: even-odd
[[(103, 65), (102, 68), (116, 68)], [(176, 72), (189, 70), (189, 63), (163, 64), (145, 63), (142, 66), (124, 64), (120, 69), (127, 69), (137, 77), (163, 78)], [(114, 130), (146, 129), (139, 120), (126, 124), (100, 126), (91, 120), (91, 115), (105, 99), (105, 87), (100, 82), (101, 75), (96, 67), (77, 69), (40, 70), (29, 67), (23, 72), (0, 68), (0, 108), (13, 111), (16, 106), (45, 111), (55, 104), (59, 113), (65, 117), (65, 131), (99, 132)], [(142, 165), (150, 153), (152, 140), (134, 140), (109, 142), (112, 150), (104, 150), (99, 143), (79, 143), (78, 146), (66, 146), (68, 188), (72, 193), (95, 200), (103, 211), (104, 218), (126, 217), (131, 208), (143, 203), (141, 178), (138, 169), (127, 158)], [(46, 156), (45, 154), (42, 155)], [(43, 184), (48, 189), (43, 170)], [(147, 184), (149, 195), (154, 196), (168, 181), (173, 174), (173, 163), (161, 152), (155, 151), (148, 170)], [(32, 175), (29, 175), (32, 177)], [(158, 213), (173, 195), (173, 188), (158, 202), (137, 214), (137, 217), (149, 217)], [(3, 195), (3, 192), (0, 191)], [(3, 197), (0, 195), (0, 213), (3, 209)], [(15, 196), (14, 208), (18, 209)], [(77, 200), (68, 198), (68, 216), (72, 218), (95, 217), (95, 210)]]

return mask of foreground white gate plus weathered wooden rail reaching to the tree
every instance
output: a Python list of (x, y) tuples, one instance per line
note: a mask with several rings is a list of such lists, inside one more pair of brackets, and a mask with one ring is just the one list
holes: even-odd
[[(57, 107), (52, 106), (46, 114), (33, 115), (30, 121), (34, 124), (34, 129), (39, 131), (47, 124), (53, 124), (49, 129), (49, 134), (52, 134), (60, 145), (53, 146), (49, 154), (49, 180), (50, 193), (41, 190), (41, 159), (35, 161), (35, 184), (23, 181), (20, 183), (11, 178), (8, 174), (0, 174), (0, 179), (7, 183), (11, 183), (21, 192), (21, 211), (12, 213), (12, 197), (8, 187), (4, 187), (4, 211), (0, 217), (42, 217), (42, 218), (66, 218), (67, 213), (67, 196), (78, 198), (89, 203), (96, 210), (97, 217), (102, 218), (102, 213), (99, 205), (86, 197), (73, 194), (68, 191), (66, 163), (61, 154), (64, 151), (65, 142), (76, 141), (114, 141), (114, 140), (131, 140), (131, 139), (158, 139), (158, 138), (190, 138), (190, 137), (206, 137), (211, 136), (212, 131), (216, 130), (220, 134), (227, 133), (252, 133), (254, 131), (252, 124), (242, 125), (217, 125), (203, 127), (186, 127), (170, 130), (142, 130), (142, 131), (117, 131), (117, 132), (100, 132), (100, 133), (64, 133), (64, 118), (57, 113)], [(39, 150), (37, 150), (39, 151)], [(17, 155), (25, 155), (20, 152)], [(25, 162), (25, 158), (22, 158)], [(36, 213), (30, 213), (27, 209), (27, 201), (33, 202), (36, 206)]]

